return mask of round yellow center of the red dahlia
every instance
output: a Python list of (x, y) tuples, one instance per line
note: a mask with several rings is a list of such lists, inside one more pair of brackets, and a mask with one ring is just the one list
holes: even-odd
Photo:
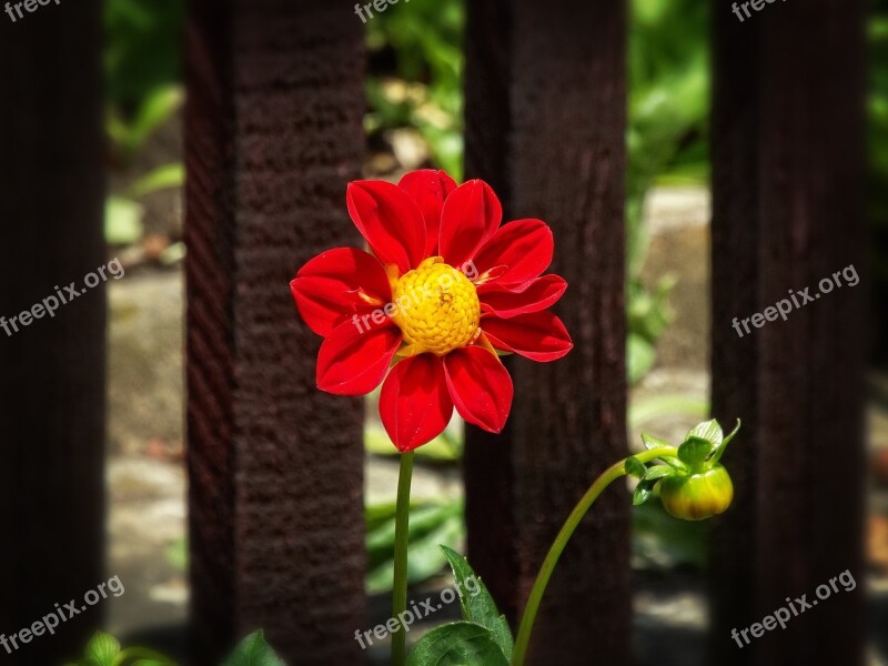
[(477, 337), (481, 303), (475, 285), (440, 256), (404, 273), (394, 285), (393, 299), (392, 319), (407, 344), (402, 356), (442, 355)]

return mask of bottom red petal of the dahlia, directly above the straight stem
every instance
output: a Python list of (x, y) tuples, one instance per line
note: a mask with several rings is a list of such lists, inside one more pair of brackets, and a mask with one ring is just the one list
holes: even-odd
[(453, 415), (444, 365), (434, 354), (420, 354), (397, 363), (380, 395), (385, 432), (402, 453), (438, 436)]

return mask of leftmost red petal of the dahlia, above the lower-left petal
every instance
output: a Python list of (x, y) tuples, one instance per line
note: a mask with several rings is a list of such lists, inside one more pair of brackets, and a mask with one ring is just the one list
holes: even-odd
[(290, 283), (290, 291), (302, 319), (324, 337), (355, 313), (373, 307), (367, 299), (381, 305), (392, 300), (382, 264), (355, 248), (337, 248), (319, 254), (300, 269)]

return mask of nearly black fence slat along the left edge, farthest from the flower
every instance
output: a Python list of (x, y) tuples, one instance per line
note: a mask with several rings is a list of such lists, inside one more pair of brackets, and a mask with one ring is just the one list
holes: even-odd
[[(30, 628), (56, 604), (107, 581), (102, 556), (103, 285), (12, 316), (103, 265), (101, 7), (0, 14), (0, 633)], [(67, 292), (65, 292), (67, 293)], [(51, 306), (51, 302), (50, 302)], [(17, 322), (20, 320), (17, 320)], [(125, 584), (125, 581), (124, 581)], [(101, 625), (97, 606), (30, 642), (3, 664), (61, 664)], [(39, 630), (39, 629), (38, 629)], [(27, 638), (27, 635), (26, 635)], [(10, 648), (12, 643), (9, 644)]]

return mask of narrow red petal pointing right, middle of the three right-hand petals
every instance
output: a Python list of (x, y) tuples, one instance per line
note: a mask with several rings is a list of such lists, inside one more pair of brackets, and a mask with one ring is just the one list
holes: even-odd
[(515, 352), (534, 361), (555, 361), (574, 346), (562, 320), (545, 310), (511, 319), (484, 316), (481, 327), (497, 350)]

